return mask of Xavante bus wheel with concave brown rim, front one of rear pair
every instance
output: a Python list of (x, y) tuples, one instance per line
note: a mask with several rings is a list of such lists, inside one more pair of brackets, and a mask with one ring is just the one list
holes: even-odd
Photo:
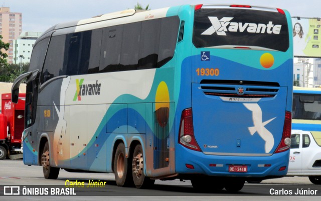
[(130, 186), (132, 184), (128, 160), (125, 157), (125, 145), (119, 143), (114, 156), (115, 180), (118, 186)]

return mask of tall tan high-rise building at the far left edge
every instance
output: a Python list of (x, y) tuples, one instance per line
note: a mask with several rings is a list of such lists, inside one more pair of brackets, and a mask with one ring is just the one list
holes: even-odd
[(22, 13), (10, 12), (9, 7), (0, 7), (0, 35), (3, 36), (2, 41), (9, 42), (7, 61), (13, 63), (13, 44), (22, 32)]

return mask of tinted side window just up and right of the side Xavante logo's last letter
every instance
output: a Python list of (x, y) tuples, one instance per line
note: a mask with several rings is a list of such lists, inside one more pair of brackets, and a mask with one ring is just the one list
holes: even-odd
[(122, 26), (117, 25), (103, 29), (99, 71), (113, 72), (119, 70)]

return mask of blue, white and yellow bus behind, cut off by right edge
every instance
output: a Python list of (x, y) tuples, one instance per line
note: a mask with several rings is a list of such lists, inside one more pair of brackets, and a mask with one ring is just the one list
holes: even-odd
[(310, 131), (321, 145), (321, 88), (294, 86), (292, 129)]

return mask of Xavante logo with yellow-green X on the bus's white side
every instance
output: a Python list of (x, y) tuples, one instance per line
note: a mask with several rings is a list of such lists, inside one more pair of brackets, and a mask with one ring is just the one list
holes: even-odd
[(81, 96), (84, 95), (100, 95), (101, 83), (98, 83), (98, 80), (93, 84), (83, 84), (83, 82), (84, 79), (76, 79), (77, 88), (73, 101), (81, 100)]

